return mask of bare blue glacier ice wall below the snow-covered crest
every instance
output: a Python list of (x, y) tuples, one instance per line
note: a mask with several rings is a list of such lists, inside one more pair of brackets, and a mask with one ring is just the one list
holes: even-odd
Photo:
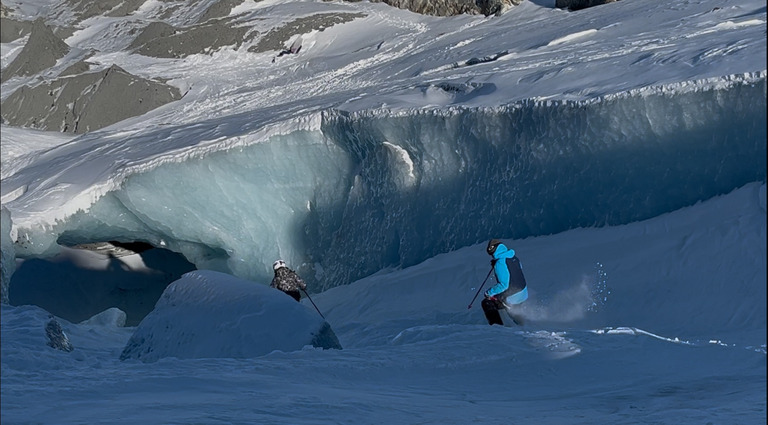
[(491, 237), (653, 217), (766, 179), (765, 75), (590, 101), (323, 114), (320, 131), (166, 164), (57, 226), (320, 290)]

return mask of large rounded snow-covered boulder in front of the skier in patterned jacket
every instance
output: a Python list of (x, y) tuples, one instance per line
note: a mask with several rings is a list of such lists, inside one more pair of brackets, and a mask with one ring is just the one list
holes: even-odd
[(312, 307), (266, 285), (196, 270), (166, 288), (120, 359), (249, 358), (308, 345), (341, 348)]

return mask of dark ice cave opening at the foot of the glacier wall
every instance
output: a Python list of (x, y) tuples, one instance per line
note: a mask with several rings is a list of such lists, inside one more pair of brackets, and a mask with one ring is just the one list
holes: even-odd
[(165, 288), (194, 264), (145, 242), (66, 244), (52, 258), (17, 260), (8, 290), (11, 305), (36, 305), (73, 323), (117, 307), (135, 326)]

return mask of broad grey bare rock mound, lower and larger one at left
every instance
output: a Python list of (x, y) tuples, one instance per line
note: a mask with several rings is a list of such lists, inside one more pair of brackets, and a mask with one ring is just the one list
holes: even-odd
[(142, 115), (181, 98), (173, 86), (109, 69), (23, 86), (2, 103), (12, 126), (86, 133)]

